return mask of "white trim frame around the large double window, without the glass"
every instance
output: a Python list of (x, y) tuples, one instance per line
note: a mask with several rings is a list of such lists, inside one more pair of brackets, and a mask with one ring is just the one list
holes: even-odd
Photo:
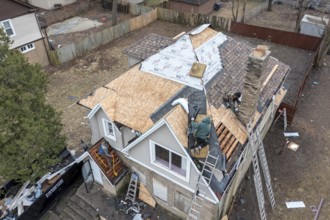
[[(156, 144), (159, 145), (160, 147), (168, 150), (171, 153), (175, 153), (176, 155), (179, 155), (181, 158), (183, 158), (183, 159), (186, 160), (186, 175), (185, 176), (183, 176), (180, 173), (177, 173), (177, 172), (169, 169), (168, 167), (166, 167), (166, 166), (164, 166), (161, 163), (158, 163), (156, 161), (156, 156), (155, 156), (155, 153), (156, 153), (155, 152), (155, 145)], [(157, 143), (157, 142), (155, 142), (153, 140), (149, 140), (149, 148), (150, 148), (150, 163), (151, 164), (153, 164), (154, 166), (157, 166), (157, 167), (161, 168), (162, 170), (165, 170), (165, 171), (171, 173), (172, 175), (174, 175), (174, 176), (176, 176), (176, 177), (178, 177), (178, 178), (180, 178), (180, 179), (182, 179), (182, 180), (184, 180), (186, 182), (189, 182), (189, 177), (190, 177), (190, 161), (188, 160), (188, 158), (186, 156), (183, 156), (181, 154), (178, 154), (177, 152), (174, 152), (173, 150), (171, 150), (171, 149), (165, 147), (164, 145), (159, 144), (159, 143)]]

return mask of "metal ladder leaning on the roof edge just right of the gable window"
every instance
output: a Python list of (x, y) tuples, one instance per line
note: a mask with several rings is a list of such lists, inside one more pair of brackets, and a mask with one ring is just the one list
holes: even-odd
[(206, 195), (213, 177), (214, 169), (218, 163), (218, 159), (219, 156), (213, 156), (210, 154), (210, 152), (208, 152), (203, 164), (202, 171), (198, 176), (195, 194), (192, 199), (187, 219), (199, 219), (203, 207), (203, 202), (206, 199)]

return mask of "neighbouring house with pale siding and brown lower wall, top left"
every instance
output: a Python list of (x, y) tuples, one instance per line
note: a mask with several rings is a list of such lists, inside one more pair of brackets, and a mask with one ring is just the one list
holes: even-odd
[(47, 66), (49, 60), (36, 18), (36, 9), (15, 0), (0, 0), (0, 27), (13, 43), (10, 49), (17, 49), (31, 63)]

